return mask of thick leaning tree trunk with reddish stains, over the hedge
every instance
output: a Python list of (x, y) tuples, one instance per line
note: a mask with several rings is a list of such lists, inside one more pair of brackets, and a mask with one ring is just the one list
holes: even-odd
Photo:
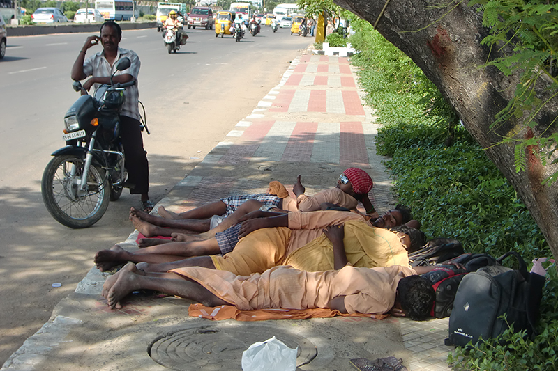
[[(541, 185), (546, 177), (557, 171), (557, 167), (543, 165), (532, 155), (539, 149), (531, 146), (526, 148), (527, 171), (517, 173), (515, 145), (494, 145), (502, 141), (504, 136), (527, 139), (557, 132), (556, 124), (550, 129), (548, 126), (557, 116), (558, 102), (552, 100), (541, 111), (533, 129), (520, 125), (521, 119), (510, 120), (490, 129), (495, 115), (513, 98), (518, 76), (506, 77), (497, 68), (479, 68), (489, 56), (488, 47), (481, 45), (481, 40), (488, 35), (488, 30), (482, 26), (482, 13), (467, 6), (467, 1), (462, 1), (458, 6), (455, 6), (455, 1), (446, 2), (446, 7), (440, 7), (439, 2), (425, 0), (334, 1), (370, 24), (375, 24), (379, 17), (377, 31), (412, 58), (455, 107), (469, 133), (486, 149), (488, 157), (529, 208), (552, 254), (558, 258), (558, 184)], [(386, 9), (380, 17), (386, 3)], [(550, 81), (540, 80), (536, 95), (545, 101), (550, 97), (546, 89)]]

